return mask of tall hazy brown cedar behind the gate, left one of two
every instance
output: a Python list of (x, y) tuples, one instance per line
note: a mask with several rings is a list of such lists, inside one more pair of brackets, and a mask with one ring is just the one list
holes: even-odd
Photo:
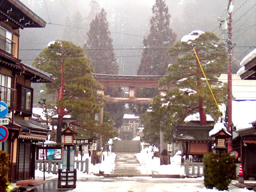
[[(106, 15), (102, 8), (100, 13), (92, 20), (84, 49), (87, 56), (92, 60), (92, 67), (96, 74), (118, 74), (118, 63), (116, 62), (113, 39), (110, 36)], [(106, 88), (105, 95), (121, 97), (124, 93), (120, 88)], [(124, 105), (106, 104), (105, 110), (113, 116), (116, 127), (122, 125)]]

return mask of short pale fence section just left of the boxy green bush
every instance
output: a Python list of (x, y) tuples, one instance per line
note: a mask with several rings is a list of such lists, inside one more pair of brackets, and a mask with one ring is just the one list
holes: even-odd
[(204, 176), (204, 163), (191, 163), (189, 160), (185, 161), (185, 177), (202, 177)]

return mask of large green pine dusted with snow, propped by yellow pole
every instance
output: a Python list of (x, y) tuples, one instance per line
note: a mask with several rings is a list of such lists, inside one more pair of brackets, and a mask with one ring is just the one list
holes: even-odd
[(186, 116), (199, 112), (200, 124), (206, 125), (206, 114), (215, 120), (221, 115), (207, 81), (203, 76), (196, 54), (202, 64), (205, 76), (211, 85), (218, 104), (227, 101), (227, 85), (218, 81), (220, 74), (227, 72), (227, 52), (223, 43), (214, 33), (193, 31), (169, 50), (177, 61), (168, 67), (168, 76), (161, 83), (173, 88), (165, 96), (168, 108), (175, 109), (173, 124), (182, 124)]

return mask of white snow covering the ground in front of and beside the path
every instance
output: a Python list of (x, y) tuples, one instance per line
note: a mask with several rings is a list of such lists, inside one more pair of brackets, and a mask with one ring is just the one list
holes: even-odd
[[(154, 154), (154, 148), (147, 147), (143, 150), (141, 150), (140, 153), (136, 154), (136, 157), (138, 161), (141, 163), (141, 173), (142, 174), (179, 174), (184, 175), (184, 167), (180, 165), (180, 156), (179, 153), (176, 154), (176, 156), (171, 158), (171, 164), (168, 165), (159, 165), (160, 160), (157, 157), (152, 158)], [(94, 173), (99, 173), (99, 171), (103, 171), (104, 173), (112, 173), (113, 168), (115, 168), (115, 154), (112, 152), (104, 152), (104, 161), (102, 161), (101, 164), (90, 164), (89, 165), (89, 174), (83, 173), (83, 172), (77, 172), (77, 187), (76, 189), (73, 189), (72, 191), (83, 191), (84, 190), (84, 179), (86, 180), (86, 189), (90, 189), (92, 187), (93, 191), (102, 191), (104, 189), (104, 185), (109, 182), (103, 182), (102, 177), (97, 177), (94, 175)], [(86, 158), (87, 156), (84, 156)], [(78, 159), (81, 159), (80, 157), (77, 157)], [(89, 158), (90, 159), (90, 158)], [(43, 172), (36, 170), (36, 179), (42, 179), (43, 178)], [(54, 175), (52, 173), (46, 173), (45, 172), (45, 179), (53, 179), (58, 177), (58, 175)], [(97, 181), (95, 181), (95, 179)], [(98, 180), (99, 179), (99, 180)], [(145, 182), (155, 182), (157, 179), (152, 179), (151, 177), (141, 177), (140, 179), (131, 179), (127, 178), (124, 180), (119, 180), (118, 182), (113, 181), (113, 188), (115, 186), (122, 186), (124, 189), (131, 188), (131, 186), (134, 185), (134, 182), (136, 180), (143, 180), (141, 182), (142, 184)], [(180, 181), (181, 180), (181, 181)], [(157, 182), (161, 183), (163, 181), (162, 185), (159, 184), (152, 184), (152, 187), (150, 189), (147, 189), (147, 191), (198, 191), (198, 192), (210, 192), (210, 191), (218, 191), (217, 189), (206, 189), (204, 187), (204, 178), (200, 177), (197, 179), (194, 179), (195, 182), (193, 182), (193, 179), (184, 178), (184, 179), (159, 179)], [(178, 181), (178, 182), (177, 182)], [(99, 184), (97, 184), (99, 182)], [(172, 182), (172, 187), (170, 188), (170, 183)], [(234, 181), (235, 182), (235, 181)], [(167, 186), (167, 183), (168, 186)], [(161, 186), (161, 187), (160, 187)], [(99, 190), (97, 190), (99, 188)], [(104, 190), (103, 190), (104, 191)], [(116, 190), (115, 190), (116, 191)], [(118, 190), (120, 191), (120, 190)], [(122, 190), (121, 190), (122, 191)], [(127, 190), (126, 190), (127, 191)], [(243, 192), (248, 191), (248, 189), (238, 189), (234, 186), (230, 185), (230, 192)]]

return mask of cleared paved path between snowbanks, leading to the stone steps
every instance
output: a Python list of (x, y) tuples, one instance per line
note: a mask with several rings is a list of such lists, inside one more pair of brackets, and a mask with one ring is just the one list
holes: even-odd
[(115, 172), (123, 175), (138, 175), (141, 164), (134, 154), (116, 154)]

